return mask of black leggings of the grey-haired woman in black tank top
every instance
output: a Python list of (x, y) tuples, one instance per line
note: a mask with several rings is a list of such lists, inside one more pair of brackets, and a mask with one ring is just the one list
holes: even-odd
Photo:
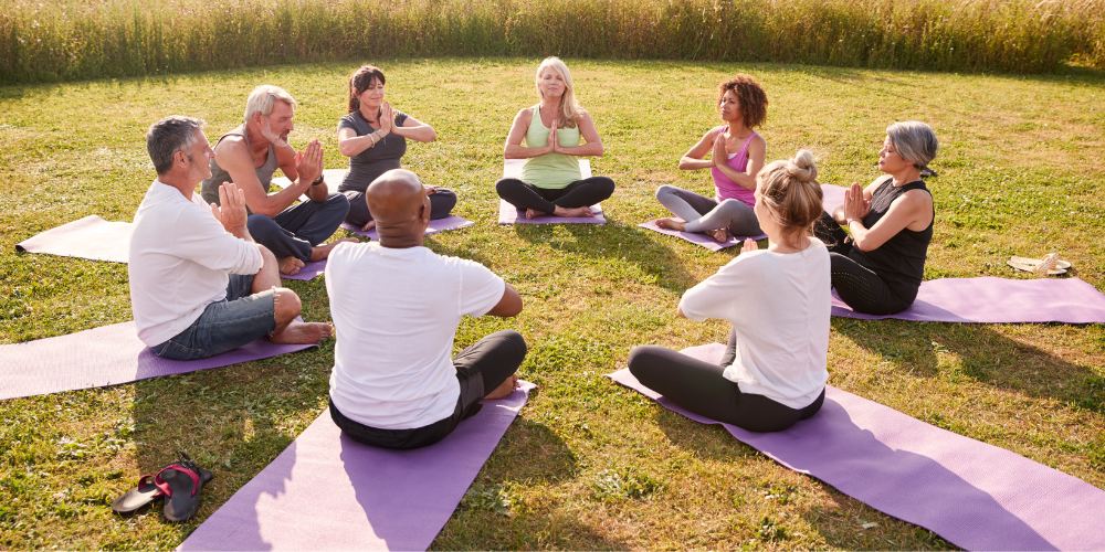
[(912, 298), (905, 300), (898, 297), (878, 274), (848, 256), (852, 252), (852, 240), (832, 215), (821, 213), (821, 219), (813, 224), (813, 234), (829, 247), (832, 287), (852, 310), (867, 315), (893, 315), (913, 305)]

